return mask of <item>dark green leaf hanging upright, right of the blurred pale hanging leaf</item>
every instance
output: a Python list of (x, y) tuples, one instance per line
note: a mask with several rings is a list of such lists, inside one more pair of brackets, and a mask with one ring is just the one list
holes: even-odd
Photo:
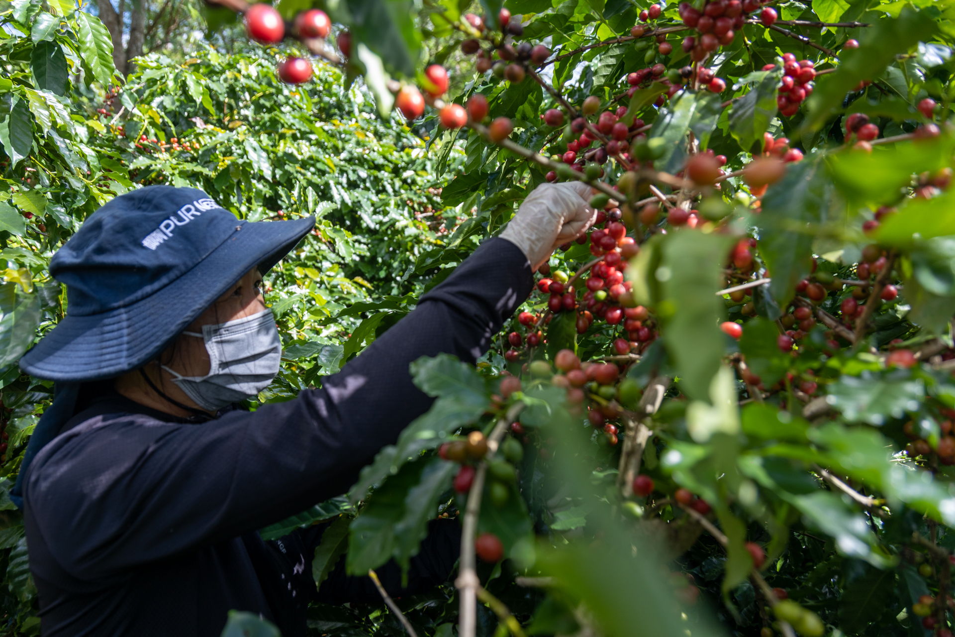
[(759, 249), (773, 273), (770, 290), (780, 306), (792, 300), (796, 284), (809, 275), (814, 224), (827, 221), (831, 197), (822, 161), (811, 158), (788, 164), (786, 176), (763, 196)]

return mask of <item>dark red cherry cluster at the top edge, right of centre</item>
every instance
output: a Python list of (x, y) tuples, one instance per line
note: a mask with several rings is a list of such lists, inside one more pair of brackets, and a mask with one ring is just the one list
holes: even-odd
[(690, 53), (694, 62), (702, 62), (720, 46), (732, 44), (747, 14), (759, 11), (759, 18), (766, 26), (772, 25), (777, 17), (772, 7), (763, 7), (759, 0), (711, 0), (703, 11), (689, 2), (681, 2), (678, 11), (683, 24), (697, 32), (683, 41), (683, 50)]

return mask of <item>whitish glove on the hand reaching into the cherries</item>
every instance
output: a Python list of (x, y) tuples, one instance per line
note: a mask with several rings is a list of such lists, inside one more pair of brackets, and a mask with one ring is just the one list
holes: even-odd
[(541, 183), (520, 204), (500, 238), (520, 247), (537, 270), (554, 248), (577, 239), (597, 219), (597, 211), (584, 199), (590, 193), (582, 181)]

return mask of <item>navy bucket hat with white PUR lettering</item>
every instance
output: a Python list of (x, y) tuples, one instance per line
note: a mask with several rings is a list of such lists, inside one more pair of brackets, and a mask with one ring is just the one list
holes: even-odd
[(314, 223), (247, 223), (196, 188), (120, 195), (53, 255), (50, 273), (67, 286), (67, 315), (20, 369), (68, 383), (136, 370), (245, 272), (275, 265)]

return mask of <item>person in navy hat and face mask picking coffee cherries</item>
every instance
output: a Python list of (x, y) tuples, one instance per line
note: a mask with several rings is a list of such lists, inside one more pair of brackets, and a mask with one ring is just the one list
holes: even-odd
[[(54, 256), (66, 317), (20, 361), (55, 381), (12, 492), (24, 510), (43, 635), (219, 635), (230, 609), (306, 634), (309, 600), (379, 601), (343, 563), (316, 591), (324, 526), (256, 529), (345, 493), (432, 399), (409, 364), (474, 362), (554, 247), (593, 222), (584, 184), (544, 184), (417, 308), (346, 365), (254, 413), (282, 339), (262, 277), (314, 219), (247, 223), (202, 191), (150, 186), (96, 211)], [(445, 581), (456, 520), (435, 520), (408, 586)]]

